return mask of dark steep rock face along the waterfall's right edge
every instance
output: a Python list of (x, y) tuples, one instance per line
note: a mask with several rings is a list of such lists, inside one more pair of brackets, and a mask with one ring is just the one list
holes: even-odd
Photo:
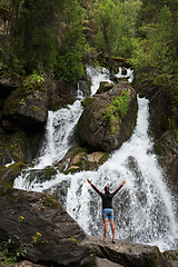
[(151, 81), (142, 85), (144, 95), (150, 100), (150, 129), (155, 138), (155, 151), (158, 161), (168, 177), (168, 184), (178, 194), (178, 142), (175, 132), (169, 128), (170, 97), (167, 90), (152, 86)]

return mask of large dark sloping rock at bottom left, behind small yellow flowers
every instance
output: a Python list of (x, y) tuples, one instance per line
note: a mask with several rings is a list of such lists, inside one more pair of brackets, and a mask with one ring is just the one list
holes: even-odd
[[(13, 250), (37, 238), (27, 259), (60, 266), (82, 266), (91, 260), (88, 245), (82, 245), (86, 233), (52, 196), (0, 187), (0, 202), (1, 243), (17, 227), (20, 239), (12, 237)], [(20, 216), (24, 219), (18, 224)]]

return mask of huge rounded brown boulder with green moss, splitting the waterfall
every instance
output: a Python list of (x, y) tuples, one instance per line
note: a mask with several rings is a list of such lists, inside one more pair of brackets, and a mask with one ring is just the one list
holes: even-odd
[(110, 89), (102, 85), (92, 98), (83, 101), (78, 122), (80, 142), (92, 151), (112, 151), (130, 138), (137, 117), (137, 95), (127, 81)]

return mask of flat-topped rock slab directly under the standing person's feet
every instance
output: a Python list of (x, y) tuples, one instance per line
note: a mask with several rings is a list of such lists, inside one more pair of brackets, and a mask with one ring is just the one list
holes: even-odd
[(97, 245), (97, 256), (125, 267), (170, 267), (158, 247), (141, 244), (131, 244), (117, 240), (115, 245), (111, 240), (106, 244), (100, 243), (98, 237), (90, 237), (90, 243)]

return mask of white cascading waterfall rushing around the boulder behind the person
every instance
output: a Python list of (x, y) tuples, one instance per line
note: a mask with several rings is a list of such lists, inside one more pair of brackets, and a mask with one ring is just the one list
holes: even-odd
[[(131, 75), (131, 70), (130, 75)], [(92, 77), (93, 95), (100, 80), (109, 80), (106, 73), (99, 77), (88, 69)], [(40, 162), (33, 169), (42, 169), (60, 160), (70, 148), (75, 125), (82, 108), (78, 99), (67, 109), (49, 112), (47, 139)], [(148, 136), (148, 100), (138, 98), (138, 118), (132, 137), (120, 149), (110, 154), (109, 159), (97, 171), (81, 171), (75, 175), (58, 172), (53, 179), (29, 181), (30, 169), (14, 181), (14, 187), (53, 194), (62, 200), (67, 211), (89, 235), (102, 235), (101, 201), (87, 179), (100, 189), (108, 185), (115, 190), (122, 180), (126, 185), (113, 198), (116, 238), (132, 243), (157, 245), (160, 250), (174, 249), (177, 245), (178, 227), (164, 174), (154, 154)], [(111, 233), (109, 231), (111, 236)]]

